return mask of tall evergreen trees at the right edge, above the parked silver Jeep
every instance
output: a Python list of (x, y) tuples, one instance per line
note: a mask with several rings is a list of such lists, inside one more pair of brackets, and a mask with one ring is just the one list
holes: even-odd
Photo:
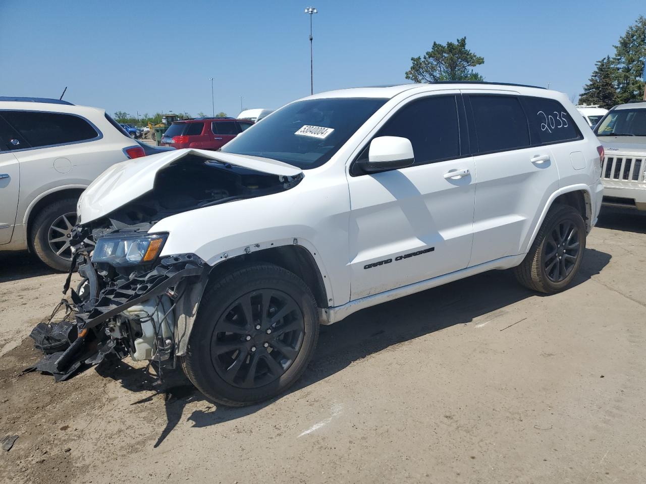
[(643, 99), (646, 17), (640, 15), (629, 26), (614, 46), (614, 51), (614, 55), (607, 55), (596, 62), (596, 68), (579, 97), (579, 104), (609, 109), (621, 103)]

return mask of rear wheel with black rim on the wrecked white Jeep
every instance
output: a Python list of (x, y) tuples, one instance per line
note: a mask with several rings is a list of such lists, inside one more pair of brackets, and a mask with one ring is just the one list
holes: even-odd
[(576, 276), (585, 252), (585, 222), (569, 205), (550, 208), (523, 262), (514, 268), (526, 288), (561, 292)]

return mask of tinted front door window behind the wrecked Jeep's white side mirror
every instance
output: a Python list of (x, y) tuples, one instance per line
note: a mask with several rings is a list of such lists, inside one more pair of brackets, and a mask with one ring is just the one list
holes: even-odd
[[(460, 156), (460, 128), (455, 96), (412, 101), (397, 111), (375, 137), (399, 136), (413, 145), (415, 165)], [(365, 150), (361, 157), (368, 157)]]

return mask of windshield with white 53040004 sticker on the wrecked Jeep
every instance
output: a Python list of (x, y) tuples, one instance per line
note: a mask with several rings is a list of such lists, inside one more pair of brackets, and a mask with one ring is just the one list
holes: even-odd
[(281, 108), (222, 146), (222, 151), (276, 159), (301, 169), (323, 165), (387, 99), (308, 99)]

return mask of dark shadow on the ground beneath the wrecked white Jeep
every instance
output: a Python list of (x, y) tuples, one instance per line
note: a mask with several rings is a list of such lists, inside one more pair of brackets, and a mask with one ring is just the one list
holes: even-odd
[[(599, 274), (609, 263), (610, 254), (586, 249), (585, 258), (574, 279), (584, 283)], [(517, 303), (527, 297), (543, 297), (521, 287), (509, 271), (491, 271), (468, 279), (429, 289), (357, 312), (344, 321), (320, 330), (318, 347), (306, 372), (286, 394), (298, 392), (388, 347), (410, 341), (453, 325), (468, 324), (475, 318)], [(184, 407), (193, 401), (205, 401), (181, 370), (169, 372), (156, 388), (145, 368), (133, 368), (121, 361), (118, 365), (99, 365), (99, 374), (120, 381), (133, 392), (155, 390), (165, 394), (167, 422), (154, 447), (163, 442), (182, 420)], [(193, 427), (209, 427), (253, 414), (273, 405), (286, 394), (249, 407), (233, 408), (214, 405), (208, 411), (194, 410), (187, 420)], [(137, 401), (150, 401), (155, 395)], [(134, 405), (134, 404), (133, 404)]]

